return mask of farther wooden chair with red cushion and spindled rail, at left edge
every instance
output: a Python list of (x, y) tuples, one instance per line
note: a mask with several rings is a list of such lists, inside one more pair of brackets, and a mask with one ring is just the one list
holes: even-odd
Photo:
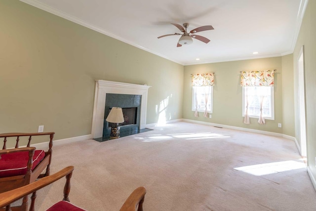
[[(54, 132), (0, 134), (0, 140), (3, 138), (3, 147), (0, 150), (0, 193), (28, 185), (38, 178), (49, 175), (54, 134)], [(30, 147), (33, 136), (40, 138), (46, 136), (48, 140), (46, 152)], [(24, 139), (27, 147), (19, 148), (19, 143)], [(15, 148), (6, 149), (9, 141), (15, 141), (13, 143)], [(28, 198), (25, 197), (19, 210), (26, 211), (27, 207)]]

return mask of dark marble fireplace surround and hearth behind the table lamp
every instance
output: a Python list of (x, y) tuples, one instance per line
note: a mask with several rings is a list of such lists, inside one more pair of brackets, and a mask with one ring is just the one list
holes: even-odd
[(120, 107), (123, 111), (124, 122), (119, 124), (120, 137), (150, 130), (139, 129), (141, 97), (142, 95), (106, 93), (103, 137), (95, 138), (95, 140), (106, 141), (110, 139), (112, 123), (107, 122), (106, 118), (113, 107)]

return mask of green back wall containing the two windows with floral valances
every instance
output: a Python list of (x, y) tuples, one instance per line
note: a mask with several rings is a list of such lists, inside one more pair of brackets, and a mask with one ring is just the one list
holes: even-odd
[[(249, 129), (258, 129), (270, 132), (283, 133), (283, 127), (277, 127), (278, 123), (283, 123), (282, 59), (282, 57), (272, 57), (185, 66), (183, 118), (234, 127), (244, 127)], [(250, 118), (250, 125), (243, 124), (242, 87), (240, 86), (239, 72), (274, 69), (276, 69), (275, 120), (266, 120), (265, 125), (260, 125), (258, 124), (258, 119)], [(286, 69), (286, 71), (288, 71), (288, 69)], [(194, 112), (192, 111), (191, 74), (197, 73), (215, 73), (215, 85), (213, 89), (213, 113), (211, 114), (211, 119), (204, 118), (202, 113), (199, 113), (198, 118), (194, 117)], [(294, 122), (292, 124), (287, 124), (290, 125), (288, 127), (294, 127)], [(285, 125), (285, 127), (287, 126)], [(286, 131), (287, 130), (288, 129), (286, 129)]]

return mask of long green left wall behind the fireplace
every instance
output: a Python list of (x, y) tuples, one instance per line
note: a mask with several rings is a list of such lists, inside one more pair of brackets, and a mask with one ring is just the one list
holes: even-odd
[(91, 134), (95, 80), (152, 86), (147, 124), (182, 118), (182, 65), (18, 0), (0, 14), (0, 133)]

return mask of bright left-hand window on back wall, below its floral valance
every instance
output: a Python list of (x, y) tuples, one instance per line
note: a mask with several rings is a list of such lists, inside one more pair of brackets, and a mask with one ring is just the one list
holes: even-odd
[[(207, 105), (206, 98), (207, 95)], [(213, 86), (192, 86), (192, 111), (213, 113)]]

